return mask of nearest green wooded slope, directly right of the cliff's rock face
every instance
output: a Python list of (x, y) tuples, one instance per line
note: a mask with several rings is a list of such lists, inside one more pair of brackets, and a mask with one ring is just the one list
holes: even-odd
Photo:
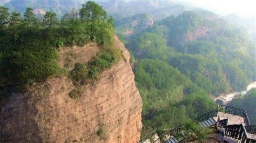
[(143, 98), (145, 132), (178, 126), (216, 107), (207, 92), (166, 62), (140, 60), (135, 76)]

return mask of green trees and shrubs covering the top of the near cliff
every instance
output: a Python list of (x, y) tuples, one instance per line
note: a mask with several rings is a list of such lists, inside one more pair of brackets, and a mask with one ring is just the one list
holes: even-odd
[[(96, 79), (119, 59), (121, 52), (113, 46), (113, 19), (95, 2), (83, 5), (80, 18), (70, 17), (71, 11), (61, 22), (56, 13), (48, 11), (40, 23), (32, 11), (27, 8), (21, 19), (19, 13), (10, 15), (7, 8), (0, 8), (0, 78), (8, 80), (1, 88), (26, 91), (32, 83), (65, 73), (56, 62), (57, 50), (64, 45), (83, 46), (92, 41), (101, 46), (91, 62), (75, 65), (70, 72), (74, 83), (85, 84)], [(70, 93), (72, 98), (77, 95), (77, 90)]]

